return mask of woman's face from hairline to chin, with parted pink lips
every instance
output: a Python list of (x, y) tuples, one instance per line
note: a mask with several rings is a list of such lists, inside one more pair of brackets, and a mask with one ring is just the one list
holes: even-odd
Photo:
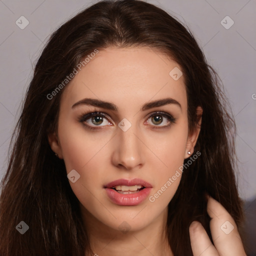
[[(188, 136), (180, 69), (149, 48), (109, 47), (64, 89), (57, 139), (49, 143), (90, 220), (138, 230), (166, 213), (198, 135)], [(103, 114), (88, 115), (95, 111)], [(132, 191), (136, 185), (145, 188)]]

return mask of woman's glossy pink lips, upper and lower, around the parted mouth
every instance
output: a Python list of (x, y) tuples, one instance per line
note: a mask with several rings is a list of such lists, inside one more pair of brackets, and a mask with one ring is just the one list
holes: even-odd
[[(143, 188), (142, 190), (136, 193), (121, 194), (121, 193), (118, 193), (116, 190), (111, 189), (111, 187), (116, 185), (126, 185), (126, 186), (143, 185), (145, 188)], [(113, 203), (121, 206), (135, 206), (146, 199), (146, 197), (148, 196), (148, 194), (152, 189), (152, 185), (139, 178), (134, 178), (131, 180), (117, 179), (105, 185), (104, 188), (106, 190), (108, 197)]]

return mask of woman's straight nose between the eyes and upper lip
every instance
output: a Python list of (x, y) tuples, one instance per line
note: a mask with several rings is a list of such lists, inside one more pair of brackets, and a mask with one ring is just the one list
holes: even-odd
[(118, 168), (138, 169), (144, 163), (142, 150), (145, 146), (141, 142), (141, 138), (139, 138), (134, 126), (131, 125), (126, 131), (118, 129), (116, 136), (114, 136), (114, 141), (112, 141), (114, 145), (112, 163)]

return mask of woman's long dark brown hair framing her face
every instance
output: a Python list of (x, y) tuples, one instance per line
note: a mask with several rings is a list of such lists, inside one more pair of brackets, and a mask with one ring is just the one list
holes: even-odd
[[(243, 215), (234, 175), (235, 123), (216, 72), (190, 30), (164, 10), (140, 0), (104, 0), (61, 25), (35, 65), (1, 180), (1, 256), (91, 253), (64, 162), (55, 157), (47, 140), (47, 134), (56, 129), (65, 88), (51, 99), (47, 95), (87, 54), (108, 46), (147, 46), (171, 57), (184, 75), (190, 131), (197, 125), (196, 107), (203, 109), (194, 148), (201, 155), (184, 169), (168, 205), (166, 230), (174, 255), (192, 255), (188, 226), (195, 219), (211, 238), (205, 191), (240, 226)], [(24, 234), (15, 228), (20, 221), (29, 226)]]

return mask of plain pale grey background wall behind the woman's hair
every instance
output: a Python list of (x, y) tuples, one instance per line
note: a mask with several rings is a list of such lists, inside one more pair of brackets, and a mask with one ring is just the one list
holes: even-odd
[[(96, 0), (0, 0), (0, 179), (6, 171), (10, 135), (33, 66), (49, 35)], [(237, 125), (239, 194), (256, 197), (256, 0), (148, 0), (192, 31), (225, 87)], [(25, 16), (20, 29), (15, 21)], [(234, 24), (226, 29), (228, 15)], [(226, 26), (230, 20), (223, 20)], [(24, 23), (23, 23), (24, 24)], [(254, 99), (253, 99), (254, 98)]]

